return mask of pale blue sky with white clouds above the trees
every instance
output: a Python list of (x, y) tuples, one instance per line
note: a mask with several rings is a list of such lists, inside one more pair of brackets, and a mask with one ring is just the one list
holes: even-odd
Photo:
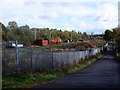
[(102, 34), (118, 26), (119, 0), (1, 0), (0, 22), (5, 26), (57, 28)]

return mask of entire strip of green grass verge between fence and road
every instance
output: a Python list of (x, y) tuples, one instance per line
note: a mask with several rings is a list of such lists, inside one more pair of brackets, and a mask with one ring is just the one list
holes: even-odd
[(52, 72), (17, 73), (14, 75), (3, 76), (2, 88), (30, 88), (33, 85), (48, 83), (64, 77), (65, 75), (75, 73), (94, 63), (96, 60), (99, 60), (102, 56), (103, 54), (99, 53), (96, 56), (91, 56), (89, 59), (81, 61), (77, 65), (54, 69)]

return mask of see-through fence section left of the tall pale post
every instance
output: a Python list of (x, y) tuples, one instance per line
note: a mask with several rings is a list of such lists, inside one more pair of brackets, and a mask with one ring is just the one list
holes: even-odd
[(2, 46), (2, 74), (16, 72), (15, 49)]

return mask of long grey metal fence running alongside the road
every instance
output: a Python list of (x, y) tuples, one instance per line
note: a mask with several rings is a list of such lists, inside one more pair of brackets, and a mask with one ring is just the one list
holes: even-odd
[(79, 64), (89, 56), (103, 51), (103, 47), (87, 51), (40, 51), (33, 48), (18, 49), (18, 65), (15, 48), (2, 48), (3, 75), (28, 71), (44, 71)]

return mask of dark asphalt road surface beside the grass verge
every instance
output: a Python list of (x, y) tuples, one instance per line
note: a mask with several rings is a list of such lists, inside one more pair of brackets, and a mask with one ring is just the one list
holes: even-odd
[(108, 52), (101, 60), (74, 74), (33, 88), (119, 88), (120, 65)]

